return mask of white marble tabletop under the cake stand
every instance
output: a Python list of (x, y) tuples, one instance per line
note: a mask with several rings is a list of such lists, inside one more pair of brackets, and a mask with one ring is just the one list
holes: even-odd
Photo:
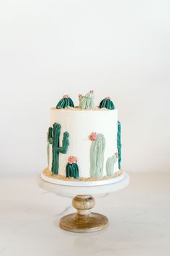
[(170, 175), (130, 174), (130, 185), (95, 197), (107, 229), (74, 234), (58, 227), (71, 198), (37, 186), (37, 174), (0, 179), (1, 256), (169, 256)]

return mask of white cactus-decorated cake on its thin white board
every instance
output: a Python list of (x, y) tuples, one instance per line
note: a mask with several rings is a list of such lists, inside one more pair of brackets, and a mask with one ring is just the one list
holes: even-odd
[(120, 181), (121, 124), (111, 98), (94, 106), (90, 90), (79, 95), (79, 106), (74, 106), (70, 96), (63, 95), (50, 108), (47, 155), (48, 167), (41, 174), (47, 182), (91, 186)]

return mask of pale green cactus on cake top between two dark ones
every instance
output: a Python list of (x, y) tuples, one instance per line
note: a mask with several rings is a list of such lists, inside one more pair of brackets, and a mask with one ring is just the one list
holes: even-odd
[(94, 107), (94, 91), (90, 90), (86, 95), (79, 94), (79, 108), (91, 109)]

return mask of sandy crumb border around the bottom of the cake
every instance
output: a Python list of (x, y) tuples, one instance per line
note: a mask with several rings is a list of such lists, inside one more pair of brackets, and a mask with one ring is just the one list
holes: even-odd
[(94, 181), (103, 181), (106, 179), (114, 179), (120, 175), (123, 174), (123, 171), (117, 171), (114, 175), (112, 176), (103, 176), (102, 178), (93, 178), (93, 177), (88, 177), (88, 178), (83, 178), (83, 177), (79, 177), (79, 179), (75, 179), (73, 177), (66, 177), (64, 175), (61, 174), (52, 174), (52, 172), (50, 171), (49, 168), (45, 168), (44, 171), (42, 171), (42, 174), (44, 174), (45, 176), (47, 176), (48, 178), (53, 178), (53, 179), (61, 179), (63, 181), (66, 182), (94, 182)]

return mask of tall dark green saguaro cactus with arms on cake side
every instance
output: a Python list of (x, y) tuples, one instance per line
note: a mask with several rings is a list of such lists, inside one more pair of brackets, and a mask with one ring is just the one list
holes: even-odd
[[(54, 123), (53, 128), (48, 129), (48, 142), (52, 145), (53, 161), (51, 171), (53, 174), (58, 174), (59, 153), (66, 154), (69, 145), (68, 132), (63, 133), (62, 147), (59, 147), (59, 139), (61, 135), (61, 124)], [(48, 159), (49, 161), (49, 159)]]

